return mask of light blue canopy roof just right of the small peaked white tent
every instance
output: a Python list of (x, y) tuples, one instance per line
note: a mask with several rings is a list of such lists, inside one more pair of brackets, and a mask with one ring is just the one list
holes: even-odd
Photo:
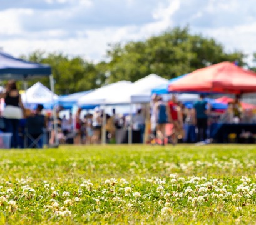
[[(86, 94), (89, 94), (92, 90), (90, 91), (81, 91), (79, 93), (74, 93), (74, 94), (68, 94), (66, 96), (59, 96), (58, 99), (58, 105), (62, 106), (64, 109), (71, 109), (74, 104), (78, 101), (78, 99)], [(91, 109), (92, 107), (90, 107)], [(94, 107), (93, 107), (94, 108)]]

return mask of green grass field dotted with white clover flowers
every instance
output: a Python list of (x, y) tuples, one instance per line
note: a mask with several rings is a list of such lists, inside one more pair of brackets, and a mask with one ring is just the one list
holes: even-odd
[(0, 224), (255, 224), (254, 145), (0, 151)]

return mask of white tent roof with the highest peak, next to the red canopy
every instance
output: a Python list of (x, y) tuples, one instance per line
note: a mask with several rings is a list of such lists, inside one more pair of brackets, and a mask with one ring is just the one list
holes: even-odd
[(152, 89), (161, 84), (168, 84), (168, 79), (150, 74), (123, 89), (122, 94), (108, 99), (108, 104), (149, 103)]

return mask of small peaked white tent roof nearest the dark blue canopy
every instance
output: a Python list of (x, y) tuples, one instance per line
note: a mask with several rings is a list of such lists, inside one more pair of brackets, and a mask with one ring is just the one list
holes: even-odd
[(21, 94), (21, 99), (23, 103), (28, 104), (45, 104), (51, 103), (58, 99), (58, 95), (54, 94), (51, 90), (46, 88), (40, 82), (37, 82), (30, 88), (28, 88), (25, 93)]

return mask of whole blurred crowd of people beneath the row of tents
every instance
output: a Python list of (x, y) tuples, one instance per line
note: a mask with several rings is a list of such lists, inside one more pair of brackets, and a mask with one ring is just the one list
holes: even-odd
[[(138, 108), (132, 116), (116, 114), (115, 109), (107, 114), (96, 107), (93, 113), (83, 116), (82, 108), (78, 108), (75, 114), (64, 114), (62, 117), (59, 116), (60, 111), (57, 111), (56, 119), (53, 119), (53, 114), (43, 113), (41, 104), (34, 111), (24, 108), (15, 81), (8, 82), (0, 97), (4, 98), (6, 104), (1, 118), (4, 120), (4, 128), (0, 123), (0, 129), (12, 134), (11, 148), (42, 148), (44, 144), (54, 143), (100, 144), (103, 129), (106, 143), (115, 143), (116, 131), (129, 128), (140, 131), (140, 143), (175, 145), (184, 141), (185, 136), (185, 141), (195, 143), (208, 138), (208, 126), (212, 118), (217, 118), (220, 123), (248, 120), (240, 96), (228, 103), (224, 113), (213, 112), (203, 95), (188, 107), (178, 101), (175, 94), (168, 101), (154, 94), (150, 109)], [(148, 121), (147, 114), (150, 118)]]

